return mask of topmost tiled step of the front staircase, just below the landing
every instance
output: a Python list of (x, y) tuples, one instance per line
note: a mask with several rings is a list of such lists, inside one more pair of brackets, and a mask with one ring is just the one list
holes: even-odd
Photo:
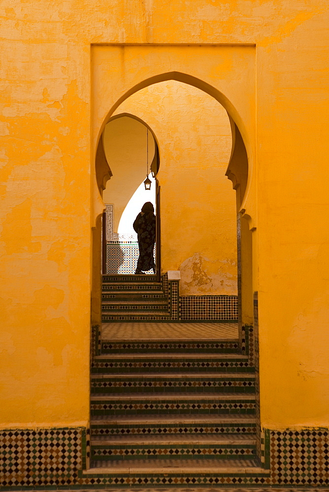
[(125, 353), (130, 355), (133, 353), (208, 353), (216, 350), (216, 353), (236, 353), (239, 348), (238, 339), (152, 339), (152, 340), (102, 340), (102, 353), (115, 354)]

